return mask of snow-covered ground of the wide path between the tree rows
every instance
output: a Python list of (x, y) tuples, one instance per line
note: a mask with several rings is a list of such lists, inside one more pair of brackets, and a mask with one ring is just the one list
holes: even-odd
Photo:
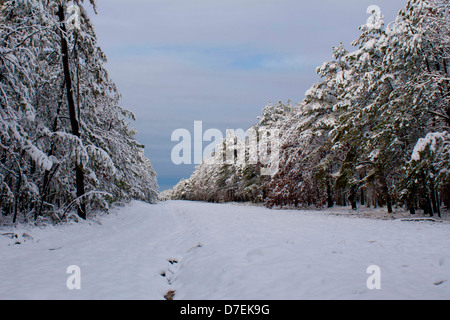
[(449, 222), (169, 201), (0, 234), (0, 299), (450, 299)]

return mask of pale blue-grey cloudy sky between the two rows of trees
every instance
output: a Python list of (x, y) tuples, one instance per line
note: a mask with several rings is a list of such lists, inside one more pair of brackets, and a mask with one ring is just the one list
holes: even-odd
[(369, 5), (387, 24), (406, 0), (97, 0), (107, 69), (161, 190), (194, 170), (172, 164), (175, 129), (246, 130), (269, 102), (303, 100), (331, 48), (351, 49)]

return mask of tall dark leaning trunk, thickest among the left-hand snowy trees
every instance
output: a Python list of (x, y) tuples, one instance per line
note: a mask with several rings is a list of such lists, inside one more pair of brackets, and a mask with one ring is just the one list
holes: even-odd
[[(72, 79), (70, 76), (70, 66), (69, 66), (69, 49), (67, 45), (67, 40), (65, 38), (66, 33), (66, 25), (65, 25), (65, 10), (62, 4), (59, 5), (58, 17), (61, 23), (61, 53), (63, 56), (63, 68), (64, 68), (64, 81), (66, 83), (66, 91), (67, 91), (67, 103), (69, 105), (69, 116), (70, 116), (70, 124), (72, 126), (72, 133), (76, 137), (80, 138), (80, 127), (77, 119), (77, 112), (75, 108), (75, 100), (73, 98), (73, 88), (72, 88)], [(85, 194), (84, 190), (84, 172), (82, 165), (78, 163), (76, 160), (75, 163), (75, 175), (76, 175), (76, 188), (77, 188), (77, 197), (80, 198)], [(78, 215), (82, 219), (86, 219), (86, 204), (84, 199), (80, 198), (80, 203), (78, 205)]]

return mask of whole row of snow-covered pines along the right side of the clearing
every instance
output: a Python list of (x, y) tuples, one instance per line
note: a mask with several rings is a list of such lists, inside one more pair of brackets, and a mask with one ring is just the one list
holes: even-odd
[[(304, 101), (266, 108), (264, 118), (273, 120), (265, 125), (280, 129), (279, 170), (272, 177), (253, 171), (257, 183), (245, 187), (259, 195), (252, 200), (388, 212), (398, 204), (430, 215), (449, 207), (449, 9), (448, 1), (411, 0), (385, 28), (360, 27), (356, 49), (333, 48)], [(214, 168), (201, 167), (209, 180), (198, 170), (175, 190), (190, 188), (188, 198), (198, 199), (194, 179), (212, 194), (218, 181), (244, 180), (231, 167), (219, 180)]]

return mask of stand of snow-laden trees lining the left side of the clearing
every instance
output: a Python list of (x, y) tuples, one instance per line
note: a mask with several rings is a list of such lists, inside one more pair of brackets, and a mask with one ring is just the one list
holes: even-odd
[[(83, 1), (3, 1), (0, 208), (26, 219), (132, 198), (154, 202), (156, 174), (129, 127)], [(95, 8), (95, 2), (90, 1)]]

